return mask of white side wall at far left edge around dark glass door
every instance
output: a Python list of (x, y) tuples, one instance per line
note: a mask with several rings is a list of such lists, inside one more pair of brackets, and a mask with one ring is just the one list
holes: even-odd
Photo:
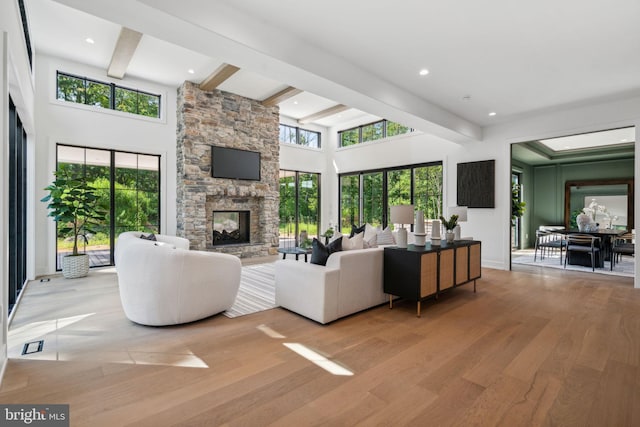
[[(0, 2), (0, 376), (7, 361), (7, 315), (9, 295), (8, 271), (8, 107), (9, 95), (16, 105), (20, 119), (27, 132), (28, 153), (33, 153), (34, 85), (29, 68), (26, 44), (20, 18), (18, 2)], [(27, 209), (29, 206), (27, 206)], [(33, 233), (27, 236), (33, 241)], [(27, 260), (28, 273), (33, 264)]]

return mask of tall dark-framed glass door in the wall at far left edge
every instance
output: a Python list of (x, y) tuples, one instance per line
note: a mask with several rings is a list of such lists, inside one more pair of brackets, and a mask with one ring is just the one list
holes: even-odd
[(27, 133), (9, 98), (9, 312), (27, 280)]

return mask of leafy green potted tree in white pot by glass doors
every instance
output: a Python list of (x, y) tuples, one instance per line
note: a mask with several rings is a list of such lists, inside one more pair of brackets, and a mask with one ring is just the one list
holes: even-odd
[(55, 179), (45, 188), (49, 194), (41, 201), (48, 203), (48, 216), (57, 222), (58, 236), (73, 239), (73, 251), (62, 258), (62, 274), (67, 279), (84, 277), (89, 272), (89, 256), (78, 252), (78, 238), (87, 242), (87, 233), (105, 220), (107, 210), (86, 177), (74, 173), (69, 165), (60, 165), (53, 174)]

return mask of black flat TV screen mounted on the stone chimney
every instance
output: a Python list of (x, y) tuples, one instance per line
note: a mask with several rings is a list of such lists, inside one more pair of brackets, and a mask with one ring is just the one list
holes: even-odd
[(260, 181), (260, 153), (213, 146), (211, 147), (211, 176)]

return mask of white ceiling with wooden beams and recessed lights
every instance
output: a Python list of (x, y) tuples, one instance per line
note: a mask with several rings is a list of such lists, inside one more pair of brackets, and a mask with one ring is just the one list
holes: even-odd
[(193, 81), (338, 130), (387, 118), (467, 143), (640, 94), (635, 0), (25, 3), (39, 53), (113, 78)]

